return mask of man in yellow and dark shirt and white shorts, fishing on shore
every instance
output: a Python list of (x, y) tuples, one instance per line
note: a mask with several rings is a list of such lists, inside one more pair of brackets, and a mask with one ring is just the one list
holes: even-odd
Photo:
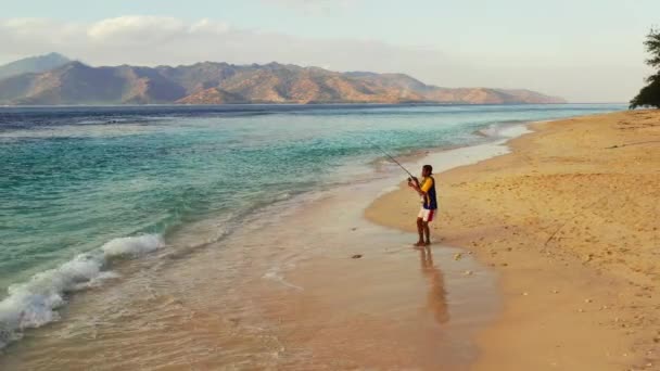
[[(429, 223), (433, 221), (437, 210), (437, 199), (435, 197), (435, 179), (431, 176), (433, 167), (424, 165), (421, 167), (421, 184), (417, 178), (408, 179), (408, 187), (412, 188), (421, 196), (421, 209), (417, 216), (417, 232), (419, 241), (415, 246), (428, 246), (431, 244), (431, 231)], [(426, 240), (424, 240), (426, 236)]]

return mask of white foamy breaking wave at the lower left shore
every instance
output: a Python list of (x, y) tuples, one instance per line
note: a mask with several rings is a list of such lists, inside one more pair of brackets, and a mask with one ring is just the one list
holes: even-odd
[(58, 308), (66, 304), (66, 294), (117, 278), (116, 273), (103, 270), (109, 259), (135, 257), (164, 246), (160, 234), (114, 239), (98, 251), (80, 254), (27, 282), (11, 285), (9, 295), (0, 302), (0, 348), (20, 338), (25, 329), (59, 320)]

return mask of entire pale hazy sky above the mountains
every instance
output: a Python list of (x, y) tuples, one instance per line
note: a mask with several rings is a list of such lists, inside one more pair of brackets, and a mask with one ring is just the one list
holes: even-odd
[(0, 64), (292, 63), (405, 73), (442, 87), (627, 102), (651, 69), (658, 0), (7, 1)]

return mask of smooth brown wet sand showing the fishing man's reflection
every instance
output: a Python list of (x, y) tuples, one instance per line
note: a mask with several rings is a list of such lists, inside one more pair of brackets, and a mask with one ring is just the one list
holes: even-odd
[(493, 271), (462, 250), (415, 250), (412, 234), (365, 220), (369, 195), (385, 184), (319, 201), (295, 216), (302, 230), (325, 225), (319, 234), (278, 241), (294, 250), (321, 242), (278, 274), (283, 282), (252, 287), (285, 349), (278, 367), (467, 370), (475, 360), (474, 334), (500, 309)]

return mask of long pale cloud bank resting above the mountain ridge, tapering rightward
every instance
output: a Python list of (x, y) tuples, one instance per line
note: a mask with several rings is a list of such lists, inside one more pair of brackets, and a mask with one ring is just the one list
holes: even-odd
[(92, 65), (293, 63), (338, 71), (402, 72), (437, 69), (448, 59), (440, 51), (373, 40), (308, 39), (234, 29), (208, 18), (186, 22), (169, 16), (126, 15), (94, 23), (52, 20), (0, 21), (0, 60), (56, 51)]

